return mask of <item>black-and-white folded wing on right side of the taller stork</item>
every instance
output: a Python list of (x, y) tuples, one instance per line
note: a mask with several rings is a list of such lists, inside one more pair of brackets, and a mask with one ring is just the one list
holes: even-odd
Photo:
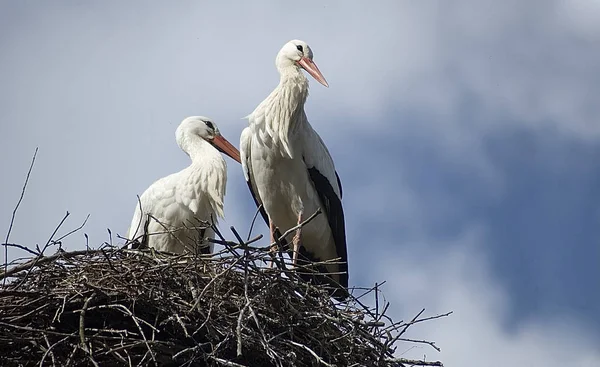
[(312, 183), (321, 200), (321, 209), (327, 216), (337, 256), (343, 264), (339, 265), (340, 284), (348, 287), (348, 253), (346, 248), (346, 228), (344, 209), (342, 208), (342, 185), (335, 171), (333, 159), (327, 147), (310, 125), (304, 129), (303, 158)]

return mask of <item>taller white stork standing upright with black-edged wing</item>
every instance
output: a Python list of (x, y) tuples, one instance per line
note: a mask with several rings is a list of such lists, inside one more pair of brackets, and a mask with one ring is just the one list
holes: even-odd
[[(327, 147), (304, 112), (308, 80), (301, 69), (329, 86), (312, 58), (310, 47), (299, 40), (286, 43), (279, 51), (275, 61), (279, 85), (248, 116), (249, 126), (240, 138), (241, 163), (257, 206), (263, 205), (272, 242), (276, 228), (285, 232), (322, 209), (323, 215), (296, 231), (292, 263), (340, 258), (342, 264), (328, 264), (321, 271), (343, 287), (344, 291), (333, 294), (343, 299), (348, 259), (342, 186)], [(323, 277), (303, 278), (330, 282)]]

